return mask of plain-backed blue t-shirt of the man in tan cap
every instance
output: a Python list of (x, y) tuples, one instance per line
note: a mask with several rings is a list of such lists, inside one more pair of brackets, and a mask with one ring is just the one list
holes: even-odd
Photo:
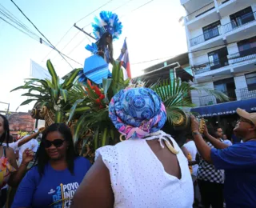
[(256, 207), (256, 141), (211, 149), (216, 169), (225, 170), (226, 208)]

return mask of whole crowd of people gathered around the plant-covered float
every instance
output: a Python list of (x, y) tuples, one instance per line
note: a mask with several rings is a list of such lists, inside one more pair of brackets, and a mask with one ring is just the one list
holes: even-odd
[[(232, 144), (222, 128), (210, 132), (205, 126), (200, 134), (198, 119), (191, 116), (191, 134), (180, 148), (161, 130), (166, 109), (158, 94), (147, 88), (120, 90), (109, 114), (125, 141), (96, 150), (92, 166), (76, 153), (65, 124), (12, 142), (8, 121), (0, 115), (1, 207), (7, 189), (18, 187), (6, 207), (190, 208), (198, 201), (205, 208), (254, 208), (256, 113), (237, 113), (234, 134), (243, 142)], [(33, 138), (41, 132), (38, 145)]]

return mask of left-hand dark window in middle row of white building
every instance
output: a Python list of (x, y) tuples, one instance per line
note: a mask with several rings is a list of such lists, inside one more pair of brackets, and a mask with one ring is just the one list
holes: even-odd
[(227, 60), (226, 47), (208, 53), (208, 58), (210, 62), (210, 70), (215, 70), (221, 68), (222, 66), (227, 66), (229, 63)]

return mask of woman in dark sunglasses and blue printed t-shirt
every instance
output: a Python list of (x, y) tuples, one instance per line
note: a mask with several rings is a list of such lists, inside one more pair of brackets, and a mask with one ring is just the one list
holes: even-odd
[(65, 124), (54, 123), (43, 132), (36, 162), (18, 187), (12, 207), (70, 207), (90, 162), (75, 153)]

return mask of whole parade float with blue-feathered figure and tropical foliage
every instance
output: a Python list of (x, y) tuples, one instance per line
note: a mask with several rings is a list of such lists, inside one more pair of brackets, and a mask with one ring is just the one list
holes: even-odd
[[(99, 16), (93, 24), (97, 42), (86, 46), (92, 55), (86, 58), (83, 69), (73, 70), (60, 83), (54, 66), (48, 60), (46, 66), (51, 80), (30, 78), (23, 86), (14, 89), (27, 90), (22, 96), (30, 99), (21, 105), (36, 102), (31, 116), (45, 120), (46, 127), (54, 122), (65, 122), (70, 126), (78, 153), (91, 161), (98, 147), (122, 141), (109, 118), (110, 99), (119, 90), (144, 86), (144, 82), (125, 78), (126, 69), (123, 66), (126, 63), (121, 60), (126, 49), (122, 50), (118, 60), (113, 58), (112, 42), (122, 34), (118, 15), (102, 11)], [(191, 90), (199, 89), (180, 79), (159, 81), (150, 88), (162, 98), (166, 106), (168, 128), (184, 130), (190, 126), (190, 117), (185, 109), (194, 106), (190, 99)], [(214, 90), (210, 93), (218, 99), (226, 99), (224, 94)]]

